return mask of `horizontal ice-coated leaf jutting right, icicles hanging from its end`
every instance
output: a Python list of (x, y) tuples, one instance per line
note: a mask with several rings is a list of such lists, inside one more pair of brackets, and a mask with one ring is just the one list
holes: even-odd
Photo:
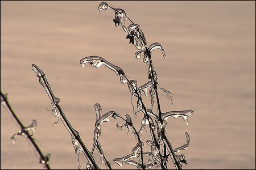
[(162, 119), (167, 120), (169, 117), (178, 118), (181, 117), (185, 121), (185, 124), (188, 125), (188, 116), (191, 116), (193, 114), (193, 111), (186, 110), (186, 111), (170, 111), (166, 113), (162, 113)]

